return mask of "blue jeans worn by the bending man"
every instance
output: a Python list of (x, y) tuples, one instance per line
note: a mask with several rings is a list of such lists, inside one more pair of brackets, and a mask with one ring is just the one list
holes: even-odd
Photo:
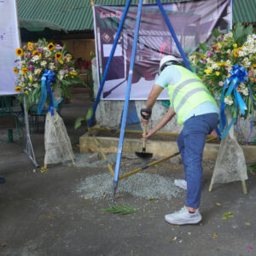
[(192, 116), (184, 122), (183, 131), (177, 137), (187, 181), (187, 207), (198, 208), (200, 205), (203, 151), (207, 134), (217, 125), (218, 113)]

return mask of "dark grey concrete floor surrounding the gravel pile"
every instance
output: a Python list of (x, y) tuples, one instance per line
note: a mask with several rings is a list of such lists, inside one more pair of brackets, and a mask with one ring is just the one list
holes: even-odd
[[(84, 128), (74, 131), (74, 120), (91, 105), (80, 97), (61, 110), (75, 151)], [(43, 131), (32, 132), (32, 144), (42, 166)], [(111, 199), (84, 200), (76, 187), (108, 168), (57, 164), (41, 173), (19, 145), (1, 143), (0, 148), (0, 175), (6, 179), (0, 184), (0, 255), (256, 255), (256, 175), (249, 174), (248, 195), (242, 194), (240, 182), (214, 184), (208, 192), (212, 168), (207, 168), (201, 224), (175, 226), (164, 215), (183, 207), (184, 192), (169, 201), (122, 195), (118, 204), (141, 211), (103, 213), (100, 209), (112, 205)], [(171, 171), (166, 175), (183, 177), (182, 166)], [(225, 212), (234, 218), (223, 220)]]

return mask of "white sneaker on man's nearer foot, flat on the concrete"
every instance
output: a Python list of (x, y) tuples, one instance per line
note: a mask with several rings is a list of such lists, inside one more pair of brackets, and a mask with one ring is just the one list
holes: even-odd
[(167, 222), (177, 225), (197, 224), (201, 221), (201, 214), (199, 209), (196, 209), (195, 213), (190, 213), (187, 207), (183, 207), (178, 212), (166, 214), (165, 219)]

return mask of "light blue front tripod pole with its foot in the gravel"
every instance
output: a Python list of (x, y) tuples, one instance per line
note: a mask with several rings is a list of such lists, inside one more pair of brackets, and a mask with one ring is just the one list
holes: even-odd
[(123, 118), (122, 118), (122, 123), (121, 123), (121, 131), (120, 131), (120, 137), (119, 137), (119, 148), (118, 148), (116, 165), (115, 165), (115, 170), (114, 170), (114, 177), (113, 177), (113, 195), (115, 195), (115, 190), (117, 189), (118, 180), (119, 180), (119, 167), (120, 167), (120, 160), (121, 160), (121, 156), (122, 156), (125, 125), (126, 125), (130, 93), (131, 93), (131, 81), (132, 81), (132, 74), (133, 74), (133, 66), (134, 66), (134, 59), (135, 59), (135, 54), (136, 54), (136, 49), (137, 49), (137, 35), (138, 35), (140, 21), (141, 21), (142, 9), (143, 9), (143, 0), (140, 0), (138, 9), (137, 9), (137, 22), (136, 22), (135, 35), (133, 38), (133, 44), (132, 44), (132, 50), (131, 50), (131, 64), (130, 64), (130, 68), (129, 68), (129, 76), (128, 76), (126, 94), (125, 94), (125, 106), (124, 106)]

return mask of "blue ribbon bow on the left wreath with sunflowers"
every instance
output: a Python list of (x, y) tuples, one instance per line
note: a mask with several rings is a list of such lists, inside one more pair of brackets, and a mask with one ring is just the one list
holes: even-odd
[[(44, 109), (44, 103), (47, 100), (47, 95), (49, 94), (49, 112), (51, 115), (55, 114), (54, 109), (58, 109), (58, 105), (61, 103), (62, 98), (60, 101), (56, 102), (55, 97), (53, 96), (52, 90), (50, 88), (50, 83), (55, 82), (55, 73), (45, 69), (44, 75), (41, 79), (41, 96), (38, 104), (38, 114), (42, 113)], [(47, 93), (48, 92), (48, 93)]]

